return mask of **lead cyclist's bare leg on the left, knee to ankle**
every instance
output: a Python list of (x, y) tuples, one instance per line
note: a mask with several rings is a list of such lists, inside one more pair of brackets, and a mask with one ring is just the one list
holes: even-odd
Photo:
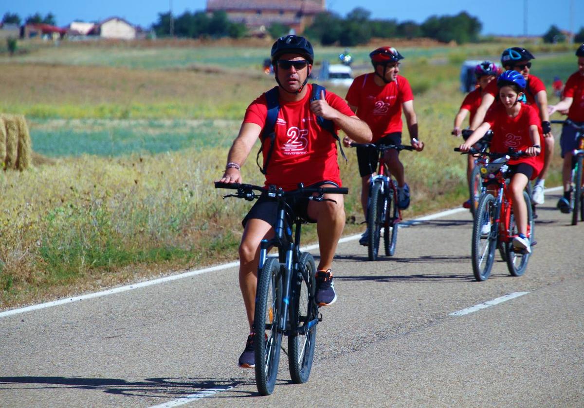
[(260, 242), (272, 238), (274, 230), (264, 220), (252, 218), (245, 224), (244, 235), (239, 244), (239, 288), (244, 297), (249, 331), (253, 330), (255, 294), (258, 286), (258, 263)]

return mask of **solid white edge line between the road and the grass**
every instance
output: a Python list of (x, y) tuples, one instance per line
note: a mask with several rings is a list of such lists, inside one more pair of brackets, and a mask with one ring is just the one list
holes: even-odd
[[(547, 189), (545, 189), (545, 192), (552, 192), (552, 191), (557, 191), (560, 189), (562, 189), (562, 186), (547, 188)], [(420, 218), (415, 219), (415, 220), (404, 221), (404, 222), (400, 223), (400, 225), (404, 226), (404, 227), (409, 227), (409, 226), (412, 226), (415, 224), (419, 224), (423, 221), (434, 220), (434, 219), (437, 219), (440, 217), (446, 217), (446, 216), (449, 216), (451, 214), (456, 214), (456, 213), (465, 212), (465, 211), (468, 211), (468, 210), (464, 209), (463, 207), (457, 207), (457, 208), (442, 211), (442, 212), (439, 212), (436, 214), (430, 214), (429, 216), (420, 217)], [(340, 238), (339, 244), (342, 242), (349, 242), (349, 241), (358, 240), (360, 237), (361, 237), (360, 234), (349, 235), (348, 237)], [(303, 247), (302, 250), (303, 251), (310, 251), (311, 249), (316, 249), (316, 248), (318, 248), (318, 244), (308, 245), (308, 247)], [(203, 273), (214, 272), (216, 270), (234, 268), (235, 266), (239, 266), (239, 262), (224, 263), (223, 265), (211, 266), (211, 268), (205, 268), (205, 269), (189, 270), (189, 271), (184, 272), (184, 273), (179, 273), (178, 275), (165, 276), (165, 277), (161, 277), (159, 279), (147, 280), (145, 282), (140, 282), (140, 283), (133, 283), (130, 285), (115, 287), (113, 289), (108, 289), (108, 290), (104, 290), (104, 291), (100, 291), (100, 292), (88, 293), (88, 294), (81, 295), (81, 296), (75, 296), (75, 297), (70, 297), (70, 298), (66, 298), (66, 299), (55, 300), (55, 301), (47, 302), (47, 303), (40, 303), (40, 304), (36, 304), (36, 305), (31, 305), (31, 306), (19, 308), (19, 309), (6, 310), (4, 312), (0, 312), (0, 318), (6, 317), (6, 316), (16, 315), (16, 314), (20, 314), (20, 313), (30, 312), (33, 310), (45, 309), (48, 307), (67, 304), (67, 303), (75, 302), (78, 300), (87, 300), (87, 299), (91, 299), (94, 297), (112, 295), (114, 293), (125, 292), (128, 290), (134, 290), (134, 289), (138, 289), (141, 287), (152, 286), (152, 285), (159, 284), (159, 283), (171, 282), (172, 280), (183, 279), (185, 277), (201, 275)]]

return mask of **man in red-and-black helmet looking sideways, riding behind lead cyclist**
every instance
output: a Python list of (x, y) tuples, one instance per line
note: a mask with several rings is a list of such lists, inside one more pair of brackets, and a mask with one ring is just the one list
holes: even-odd
[[(404, 57), (393, 47), (380, 47), (369, 54), (374, 72), (360, 75), (353, 81), (346, 100), (357, 116), (370, 126), (373, 143), (400, 145), (402, 132), (402, 109), (411, 144), (419, 152), (424, 143), (418, 140), (418, 119), (413, 110), (413, 93), (409, 82), (399, 73), (399, 60)], [(351, 136), (343, 142), (349, 146)], [(358, 142), (358, 140), (355, 140)], [(404, 178), (404, 166), (399, 161), (397, 150), (385, 152), (385, 163), (398, 184), (398, 206), (404, 210), (409, 206), (409, 186)], [(377, 150), (372, 147), (357, 147), (357, 161), (361, 176), (361, 206), (367, 218), (369, 179), (376, 172)], [(367, 230), (359, 243), (367, 245)]]

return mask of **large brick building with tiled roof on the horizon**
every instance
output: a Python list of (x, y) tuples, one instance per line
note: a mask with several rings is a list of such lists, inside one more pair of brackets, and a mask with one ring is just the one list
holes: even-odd
[(207, 0), (207, 13), (218, 10), (224, 10), (231, 22), (244, 23), (252, 33), (281, 23), (301, 34), (326, 9), (325, 0)]

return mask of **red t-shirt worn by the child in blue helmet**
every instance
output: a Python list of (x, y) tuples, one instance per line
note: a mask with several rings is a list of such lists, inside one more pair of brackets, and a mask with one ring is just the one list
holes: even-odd
[[(544, 145), (540, 126), (540, 118), (536, 110), (531, 105), (520, 104), (519, 114), (513, 118), (507, 115), (503, 104), (496, 105), (487, 112), (485, 122), (491, 125), (493, 130), (493, 140), (491, 141), (491, 152), (507, 153), (509, 147), (515, 150), (525, 151), (533, 146), (533, 141), (529, 137), (529, 126), (536, 125), (540, 133), (541, 153), (539, 156), (520, 157), (509, 160), (509, 164), (527, 163), (534, 168), (533, 178), (536, 178), (544, 166)], [(532, 178), (532, 179), (533, 179)]]

